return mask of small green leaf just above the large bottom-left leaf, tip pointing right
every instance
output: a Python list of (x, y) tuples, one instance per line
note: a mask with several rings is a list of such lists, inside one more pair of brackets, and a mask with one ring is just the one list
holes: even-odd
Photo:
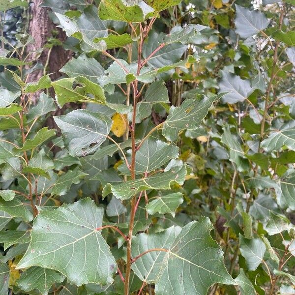
[(65, 195), (69, 191), (73, 183), (79, 183), (81, 181), (81, 178), (87, 175), (88, 174), (81, 171), (79, 167), (76, 167), (74, 170), (67, 171), (67, 173), (62, 174), (56, 180), (56, 182), (53, 185), (53, 188), (51, 189), (51, 194), (58, 196)]

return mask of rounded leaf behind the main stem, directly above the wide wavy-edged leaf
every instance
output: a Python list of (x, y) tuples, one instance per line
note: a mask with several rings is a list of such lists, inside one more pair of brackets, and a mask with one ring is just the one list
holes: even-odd
[[(173, 144), (169, 145), (153, 137), (148, 137), (136, 152), (135, 173), (144, 174), (160, 168), (171, 159), (176, 159), (178, 151), (179, 148)], [(131, 156), (127, 160), (131, 163)], [(118, 170), (130, 175), (130, 171), (125, 163), (120, 165)]]

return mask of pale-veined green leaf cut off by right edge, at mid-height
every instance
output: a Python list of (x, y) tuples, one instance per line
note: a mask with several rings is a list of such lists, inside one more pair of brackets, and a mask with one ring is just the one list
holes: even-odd
[(292, 124), (282, 126), (280, 130), (272, 131), (268, 137), (261, 143), (266, 151), (279, 150), (283, 146), (295, 149), (295, 127)]

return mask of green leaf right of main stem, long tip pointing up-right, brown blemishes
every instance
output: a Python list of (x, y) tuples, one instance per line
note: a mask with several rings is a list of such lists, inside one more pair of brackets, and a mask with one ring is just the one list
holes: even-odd
[(223, 95), (224, 93), (220, 93), (210, 98), (204, 96), (202, 100), (187, 98), (180, 107), (172, 106), (163, 125), (163, 135), (167, 140), (175, 141), (180, 131), (197, 129), (213, 102)]

